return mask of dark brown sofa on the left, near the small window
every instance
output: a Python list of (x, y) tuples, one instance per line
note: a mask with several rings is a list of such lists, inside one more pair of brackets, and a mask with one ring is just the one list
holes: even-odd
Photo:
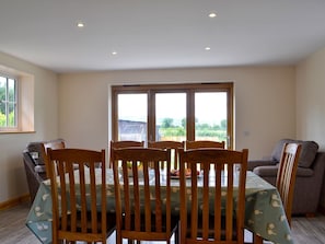
[(63, 139), (56, 139), (30, 142), (23, 151), (23, 161), (32, 202), (37, 194), (40, 182), (48, 178), (46, 174), (46, 150), (48, 148), (66, 148), (66, 141)]

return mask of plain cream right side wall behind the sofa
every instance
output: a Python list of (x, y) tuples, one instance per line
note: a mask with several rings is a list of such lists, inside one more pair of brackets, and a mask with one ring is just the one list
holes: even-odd
[[(325, 151), (325, 48), (297, 66), (297, 136)], [(325, 209), (325, 177), (321, 205)]]

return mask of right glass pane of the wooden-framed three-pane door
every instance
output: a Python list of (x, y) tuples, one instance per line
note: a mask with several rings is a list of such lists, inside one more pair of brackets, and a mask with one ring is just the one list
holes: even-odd
[(195, 93), (195, 140), (225, 141), (227, 92)]

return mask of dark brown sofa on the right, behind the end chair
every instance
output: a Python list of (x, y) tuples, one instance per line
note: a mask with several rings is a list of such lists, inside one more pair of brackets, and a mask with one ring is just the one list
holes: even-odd
[(275, 185), (278, 162), (286, 142), (302, 144), (294, 186), (292, 214), (314, 214), (318, 210), (325, 171), (325, 152), (318, 151), (316, 142), (282, 139), (276, 144), (270, 158), (248, 161), (248, 170)]

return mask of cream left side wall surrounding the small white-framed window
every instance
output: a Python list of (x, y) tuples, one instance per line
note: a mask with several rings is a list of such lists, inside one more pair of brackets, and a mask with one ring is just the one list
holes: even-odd
[(35, 132), (0, 133), (0, 204), (27, 194), (22, 151), (28, 141), (58, 137), (57, 74), (0, 53), (0, 66), (34, 75)]

